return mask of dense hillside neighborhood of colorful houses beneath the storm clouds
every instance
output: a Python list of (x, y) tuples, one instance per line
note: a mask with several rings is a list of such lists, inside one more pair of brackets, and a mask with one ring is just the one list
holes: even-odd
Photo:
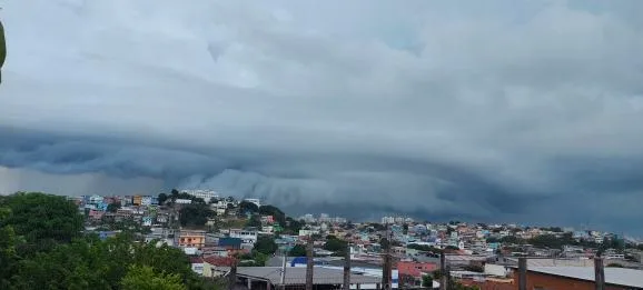
[[(383, 257), (387, 254), (392, 258), (392, 289), (438, 288), (444, 274), (448, 274), (452, 283), (471, 289), (515, 289), (522, 257), (530, 258), (530, 276), (546, 276), (563, 283), (565, 280), (577, 283), (580, 278), (554, 276), (566, 271), (578, 277), (593, 273), (594, 258), (602, 257), (606, 282), (616, 287), (613, 289), (643, 288), (640, 279), (634, 282), (610, 279), (623, 276), (621, 272), (626, 277), (643, 273), (643, 243), (611, 232), (428, 222), (403, 216), (373, 222), (352, 222), (327, 213), (293, 219), (259, 199), (222, 197), (214, 190), (69, 199), (87, 217), (86, 230), (99, 233), (101, 239), (135, 231), (140, 241), (181, 249), (192, 270), (201, 277), (227, 277), (235, 267), (238, 282), (255, 289), (269, 289), (278, 282), (266, 284), (269, 277), (260, 277), (259, 270), (250, 268), (286, 272), (289, 271), (286, 268), (306, 268), (307, 246), (313, 247), (315, 271), (340, 277), (349, 259), (352, 273), (364, 280), (352, 286), (355, 289), (383, 287), (386, 267)], [(444, 269), (448, 272), (444, 273)]]

